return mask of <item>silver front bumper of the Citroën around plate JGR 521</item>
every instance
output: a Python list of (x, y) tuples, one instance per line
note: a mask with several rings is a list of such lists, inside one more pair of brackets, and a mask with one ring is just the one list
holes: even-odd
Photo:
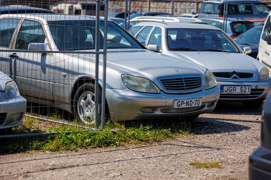
[(245, 102), (255, 100), (265, 100), (270, 90), (270, 81), (268, 82), (223, 82), (217, 81), (217, 86), (251, 86), (251, 94), (220, 94), (219, 101)]

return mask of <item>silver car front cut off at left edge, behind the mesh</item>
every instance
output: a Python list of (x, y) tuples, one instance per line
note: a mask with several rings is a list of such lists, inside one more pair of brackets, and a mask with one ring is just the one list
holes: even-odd
[(13, 127), (22, 125), (27, 107), (16, 83), (0, 72), (0, 135), (9, 134)]

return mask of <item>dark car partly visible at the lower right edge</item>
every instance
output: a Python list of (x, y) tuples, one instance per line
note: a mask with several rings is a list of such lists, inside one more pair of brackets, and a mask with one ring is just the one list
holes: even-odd
[(249, 156), (249, 179), (271, 179), (271, 94), (263, 106), (261, 145)]

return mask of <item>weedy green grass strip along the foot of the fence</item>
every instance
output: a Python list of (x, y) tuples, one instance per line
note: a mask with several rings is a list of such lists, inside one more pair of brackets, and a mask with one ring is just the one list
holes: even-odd
[[(61, 119), (55, 119), (55, 117), (54, 120), (62, 121)], [(59, 125), (25, 117), (23, 125), (14, 128), (11, 134), (65, 131), (70, 131), (70, 133), (50, 136), (0, 138), (0, 153), (115, 147), (135, 142), (159, 142), (189, 135), (189, 131), (185, 130), (185, 125), (181, 120), (144, 121), (143, 123), (140, 121), (128, 123), (108, 121), (105, 127), (102, 131), (92, 131), (77, 127), (75, 122), (72, 122), (72, 125)], [(111, 129), (117, 130), (111, 131)]]

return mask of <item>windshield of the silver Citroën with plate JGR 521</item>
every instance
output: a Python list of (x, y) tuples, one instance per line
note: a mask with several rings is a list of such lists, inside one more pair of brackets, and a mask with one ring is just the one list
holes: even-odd
[(168, 29), (170, 51), (220, 51), (239, 53), (228, 36), (220, 30)]

